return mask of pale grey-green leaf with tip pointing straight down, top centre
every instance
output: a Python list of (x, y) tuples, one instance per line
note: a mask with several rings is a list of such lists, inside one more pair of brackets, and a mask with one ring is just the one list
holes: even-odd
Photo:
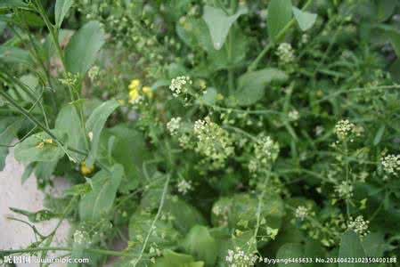
[(222, 9), (206, 5), (204, 7), (203, 20), (206, 21), (211, 39), (216, 50), (221, 49), (224, 45), (226, 36), (228, 36), (229, 29), (241, 14), (246, 13), (247, 10), (240, 8), (238, 12), (232, 16), (228, 16)]

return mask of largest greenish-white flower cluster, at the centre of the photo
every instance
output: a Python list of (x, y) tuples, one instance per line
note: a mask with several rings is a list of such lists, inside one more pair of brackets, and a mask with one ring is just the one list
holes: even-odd
[(197, 120), (193, 132), (198, 139), (196, 151), (209, 158), (213, 168), (224, 166), (226, 158), (233, 155), (231, 136), (209, 117)]

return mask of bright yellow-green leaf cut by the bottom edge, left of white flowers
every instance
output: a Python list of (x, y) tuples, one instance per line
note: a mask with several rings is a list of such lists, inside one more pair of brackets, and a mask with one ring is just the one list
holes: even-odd
[(151, 267), (203, 267), (204, 263), (195, 262), (192, 255), (176, 253), (172, 250), (165, 250), (163, 256), (151, 263)]

